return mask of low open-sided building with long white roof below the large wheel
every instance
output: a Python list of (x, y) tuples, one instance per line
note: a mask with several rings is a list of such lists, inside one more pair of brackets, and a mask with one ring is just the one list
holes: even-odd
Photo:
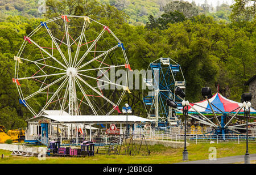
[(115, 124), (124, 134), (126, 122), (129, 129), (135, 130), (138, 125), (145, 125), (153, 120), (138, 116), (70, 116), (60, 110), (46, 110), (42, 116), (27, 120), (28, 129), (26, 131), (25, 142), (48, 143), (49, 140), (59, 139), (65, 144), (79, 144), (82, 140), (92, 140), (93, 138), (105, 135), (106, 129)]

